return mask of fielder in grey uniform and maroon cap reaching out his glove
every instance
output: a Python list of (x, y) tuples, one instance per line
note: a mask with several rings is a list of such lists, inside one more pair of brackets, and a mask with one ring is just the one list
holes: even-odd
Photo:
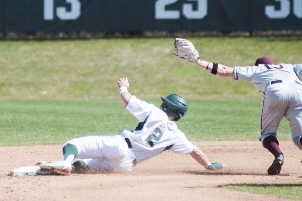
[(180, 59), (194, 62), (214, 75), (251, 82), (263, 94), (259, 140), (275, 156), (268, 174), (280, 174), (284, 156), (277, 140), (277, 129), (283, 117), (289, 121), (294, 144), (302, 149), (302, 64), (275, 64), (272, 58), (260, 57), (253, 66), (230, 68), (201, 60), (188, 40), (176, 38), (174, 46)]

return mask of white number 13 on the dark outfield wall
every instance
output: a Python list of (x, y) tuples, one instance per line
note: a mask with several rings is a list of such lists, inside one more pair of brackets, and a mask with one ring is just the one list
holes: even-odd
[[(71, 5), (71, 10), (66, 7), (57, 7), (56, 16), (60, 20), (76, 20), (81, 16), (81, 2), (79, 0), (65, 0)], [(44, 20), (54, 19), (54, 0), (44, 0)]]

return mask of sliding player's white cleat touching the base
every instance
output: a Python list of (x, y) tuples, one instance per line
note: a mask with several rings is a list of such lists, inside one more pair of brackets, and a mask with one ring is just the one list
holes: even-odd
[(71, 163), (67, 161), (52, 161), (40, 164), (41, 170), (55, 171), (62, 174), (71, 172)]

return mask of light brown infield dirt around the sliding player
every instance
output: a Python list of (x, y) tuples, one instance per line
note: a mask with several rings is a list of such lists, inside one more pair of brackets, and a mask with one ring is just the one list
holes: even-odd
[(61, 145), (0, 147), (0, 200), (291, 200), (229, 190), (226, 184), (302, 184), (302, 152), (279, 140), (284, 152), (280, 175), (269, 176), (274, 157), (258, 140), (198, 141), (212, 162), (207, 171), (190, 155), (165, 151), (132, 172), (10, 176), (10, 170), (62, 158)]

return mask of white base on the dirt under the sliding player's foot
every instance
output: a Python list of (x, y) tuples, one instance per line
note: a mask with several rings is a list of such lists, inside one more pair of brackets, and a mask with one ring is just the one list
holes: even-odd
[(25, 176), (25, 175), (54, 175), (53, 171), (41, 170), (40, 166), (23, 166), (11, 170), (11, 176)]

